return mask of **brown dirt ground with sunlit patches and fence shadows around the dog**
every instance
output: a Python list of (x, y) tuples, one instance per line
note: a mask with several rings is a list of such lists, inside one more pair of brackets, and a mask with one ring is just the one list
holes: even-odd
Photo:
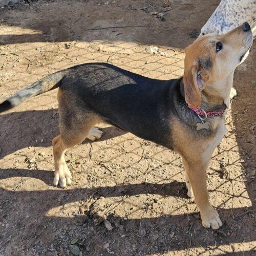
[[(0, 101), (84, 62), (179, 77), (191, 31), (200, 31), (218, 3), (27, 0), (1, 8)], [(237, 68), (228, 133), (208, 169), (220, 230), (202, 227), (178, 155), (113, 126), (67, 152), (73, 183), (54, 187), (54, 90), (0, 115), (0, 255), (254, 254), (255, 46)]]

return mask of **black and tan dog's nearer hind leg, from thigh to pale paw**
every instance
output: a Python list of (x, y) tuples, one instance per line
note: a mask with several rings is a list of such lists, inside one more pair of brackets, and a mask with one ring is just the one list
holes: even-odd
[[(66, 187), (71, 184), (71, 173), (65, 161), (65, 152), (68, 148), (80, 144), (87, 137), (99, 138), (101, 133), (93, 130), (93, 126), (100, 122), (100, 118), (89, 110), (82, 109), (72, 100), (72, 97), (59, 90), (59, 131), (60, 135), (52, 140), (54, 156), (53, 184)], [(92, 133), (93, 131), (93, 133)]]

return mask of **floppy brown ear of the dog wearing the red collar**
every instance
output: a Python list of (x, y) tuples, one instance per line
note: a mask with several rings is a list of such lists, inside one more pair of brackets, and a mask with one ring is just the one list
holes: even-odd
[(208, 73), (198, 64), (185, 70), (183, 83), (186, 103), (196, 107), (201, 105), (201, 91), (208, 80)]

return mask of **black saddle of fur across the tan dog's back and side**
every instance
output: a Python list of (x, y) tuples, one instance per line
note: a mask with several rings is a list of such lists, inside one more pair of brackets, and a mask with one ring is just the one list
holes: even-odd
[(174, 114), (172, 99), (180, 94), (179, 82), (146, 78), (106, 63), (88, 63), (71, 68), (60, 90), (106, 122), (171, 148), (170, 118), (166, 117)]

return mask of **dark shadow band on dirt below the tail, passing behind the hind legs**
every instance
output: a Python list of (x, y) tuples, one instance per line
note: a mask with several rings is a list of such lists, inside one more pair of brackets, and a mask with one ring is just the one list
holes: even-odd
[[(57, 109), (7, 113), (0, 115), (0, 124), (0, 159), (25, 147), (51, 146), (52, 139), (59, 134)], [(101, 130), (103, 136), (97, 141), (126, 133), (114, 126)], [(93, 142), (86, 139), (84, 143)]]

